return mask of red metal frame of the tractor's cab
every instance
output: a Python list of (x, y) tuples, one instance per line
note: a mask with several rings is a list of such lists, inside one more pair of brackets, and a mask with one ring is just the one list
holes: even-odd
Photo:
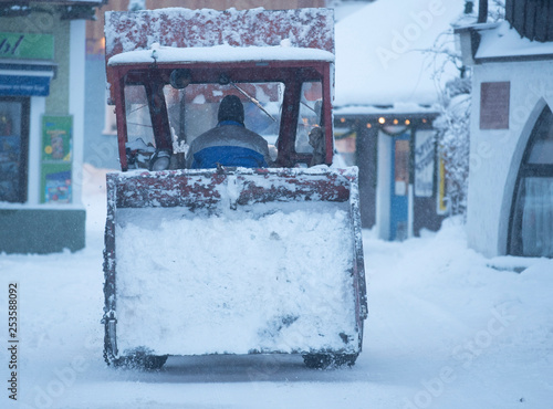
[[(298, 154), (294, 149), (296, 125), (300, 112), (301, 85), (306, 81), (321, 81), (323, 88), (323, 125), (325, 128), (325, 164), (332, 164), (333, 157), (333, 120), (331, 102), (331, 63), (321, 61), (273, 61), (259, 66), (253, 62), (237, 63), (191, 63), (191, 64), (121, 64), (108, 66), (108, 73), (114, 81), (113, 94), (116, 105), (117, 137), (119, 161), (123, 170), (127, 170), (125, 151), (126, 116), (125, 116), (125, 78), (146, 84), (148, 95), (152, 94), (150, 82), (165, 84), (169, 73), (175, 69), (187, 67), (191, 72), (194, 83), (217, 83), (221, 74), (228, 74), (234, 82), (282, 82), (285, 84), (281, 127), (279, 135), (279, 157), (276, 162), (282, 167), (293, 167), (299, 162), (309, 164), (311, 155)], [(156, 81), (150, 78), (150, 72), (156, 72)], [(149, 91), (148, 91), (149, 90)], [(150, 98), (148, 98), (150, 101)], [(158, 148), (170, 149), (169, 125), (167, 122), (165, 102), (157, 115), (152, 115), (152, 124)]]

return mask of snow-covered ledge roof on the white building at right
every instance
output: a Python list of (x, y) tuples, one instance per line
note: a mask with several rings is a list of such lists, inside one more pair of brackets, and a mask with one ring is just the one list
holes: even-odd
[(474, 25), (474, 29), (481, 35), (476, 60), (545, 55), (553, 60), (553, 42), (538, 42), (523, 38), (517, 30), (510, 28), (508, 21), (482, 28)]

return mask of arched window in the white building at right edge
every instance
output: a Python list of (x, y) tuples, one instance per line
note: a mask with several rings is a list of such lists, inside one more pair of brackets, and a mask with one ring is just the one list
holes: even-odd
[(549, 107), (532, 132), (515, 190), (510, 254), (553, 258), (553, 114)]

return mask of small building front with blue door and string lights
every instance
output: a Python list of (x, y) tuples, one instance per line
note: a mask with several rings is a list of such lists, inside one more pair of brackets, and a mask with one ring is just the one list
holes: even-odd
[(447, 214), (445, 179), (432, 127), (438, 112), (349, 107), (335, 112), (336, 148), (359, 168), (364, 228), (383, 240), (436, 231)]

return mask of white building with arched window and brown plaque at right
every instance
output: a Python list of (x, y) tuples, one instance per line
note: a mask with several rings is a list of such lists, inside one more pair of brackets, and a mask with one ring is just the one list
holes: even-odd
[(472, 66), (468, 240), (487, 256), (553, 256), (553, 10), (458, 29)]

